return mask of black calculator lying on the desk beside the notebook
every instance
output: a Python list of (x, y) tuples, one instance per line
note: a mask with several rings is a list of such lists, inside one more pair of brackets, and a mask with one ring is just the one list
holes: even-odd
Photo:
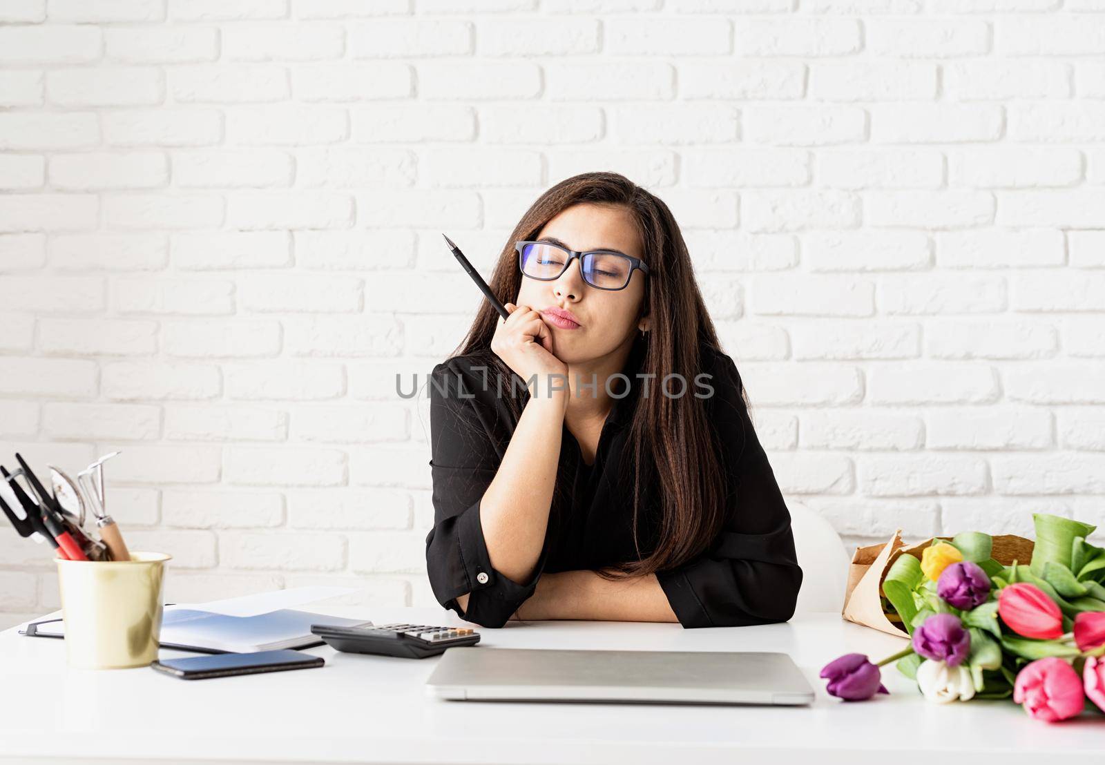
[(311, 631), (339, 651), (379, 653), (404, 659), (425, 659), (444, 653), (448, 648), (475, 646), (480, 642), (480, 633), (466, 627), (373, 625), (366, 621), (351, 627), (312, 625)]

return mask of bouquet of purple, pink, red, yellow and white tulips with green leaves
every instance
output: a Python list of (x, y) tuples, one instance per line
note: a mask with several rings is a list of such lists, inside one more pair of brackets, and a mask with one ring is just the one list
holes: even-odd
[(1054, 722), (1105, 712), (1105, 548), (1096, 526), (1033, 515), (1031, 560), (1002, 565), (979, 532), (933, 539), (920, 558), (902, 554), (883, 580), (909, 633), (904, 650), (872, 662), (848, 653), (821, 677), (846, 701), (887, 693), (881, 667), (895, 662), (935, 702), (1006, 699)]

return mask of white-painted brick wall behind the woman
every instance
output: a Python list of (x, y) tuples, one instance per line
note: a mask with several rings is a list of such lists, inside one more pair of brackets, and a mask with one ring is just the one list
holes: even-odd
[[(848, 542), (1105, 523), (1103, 98), (1094, 0), (0, 1), (0, 458), (122, 449), (173, 598), (432, 604), (440, 232), (611, 169)], [(56, 606), (0, 533), (0, 626)]]

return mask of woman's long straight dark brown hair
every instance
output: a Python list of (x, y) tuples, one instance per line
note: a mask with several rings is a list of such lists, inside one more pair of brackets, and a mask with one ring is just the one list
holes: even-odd
[[(583, 172), (560, 181), (543, 193), (526, 211), (503, 247), (488, 285), (502, 302), (514, 302), (522, 283), (514, 243), (535, 239), (552, 218), (573, 205), (622, 207), (630, 211), (642, 242), (643, 260), (650, 269), (640, 316), (651, 314), (650, 339), (642, 360), (642, 374), (662, 380), (680, 374), (685, 380), (702, 371), (699, 344), (720, 350), (714, 324), (706, 313), (695, 282), (686, 243), (675, 218), (657, 197), (615, 172)], [(640, 318), (640, 316), (638, 318)], [(460, 355), (478, 356), (491, 376), (498, 375), (501, 390), (511, 387), (513, 370), (491, 350), (498, 314), (481, 301)], [(455, 355), (455, 354), (454, 354)], [(488, 378), (491, 379), (491, 378)], [(526, 396), (506, 396), (509, 409), (522, 416)], [(747, 405), (747, 399), (746, 399)], [(644, 576), (674, 568), (709, 547), (724, 522), (725, 474), (713, 429), (707, 422), (704, 399), (642, 396), (630, 425), (635, 474), (633, 475), (633, 539), (639, 560), (610, 566), (610, 579)], [(640, 488), (652, 480), (659, 484), (660, 516), (655, 525), (655, 547), (641, 557)], [(559, 481), (558, 481), (559, 485)]]

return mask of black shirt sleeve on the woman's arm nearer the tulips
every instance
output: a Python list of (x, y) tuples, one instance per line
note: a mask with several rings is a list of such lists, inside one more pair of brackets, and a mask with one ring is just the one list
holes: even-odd
[(743, 627), (787, 621), (802, 569), (775, 472), (756, 437), (733, 359), (707, 365), (714, 387), (707, 411), (726, 472), (726, 521), (711, 547), (656, 578), (683, 627)]

